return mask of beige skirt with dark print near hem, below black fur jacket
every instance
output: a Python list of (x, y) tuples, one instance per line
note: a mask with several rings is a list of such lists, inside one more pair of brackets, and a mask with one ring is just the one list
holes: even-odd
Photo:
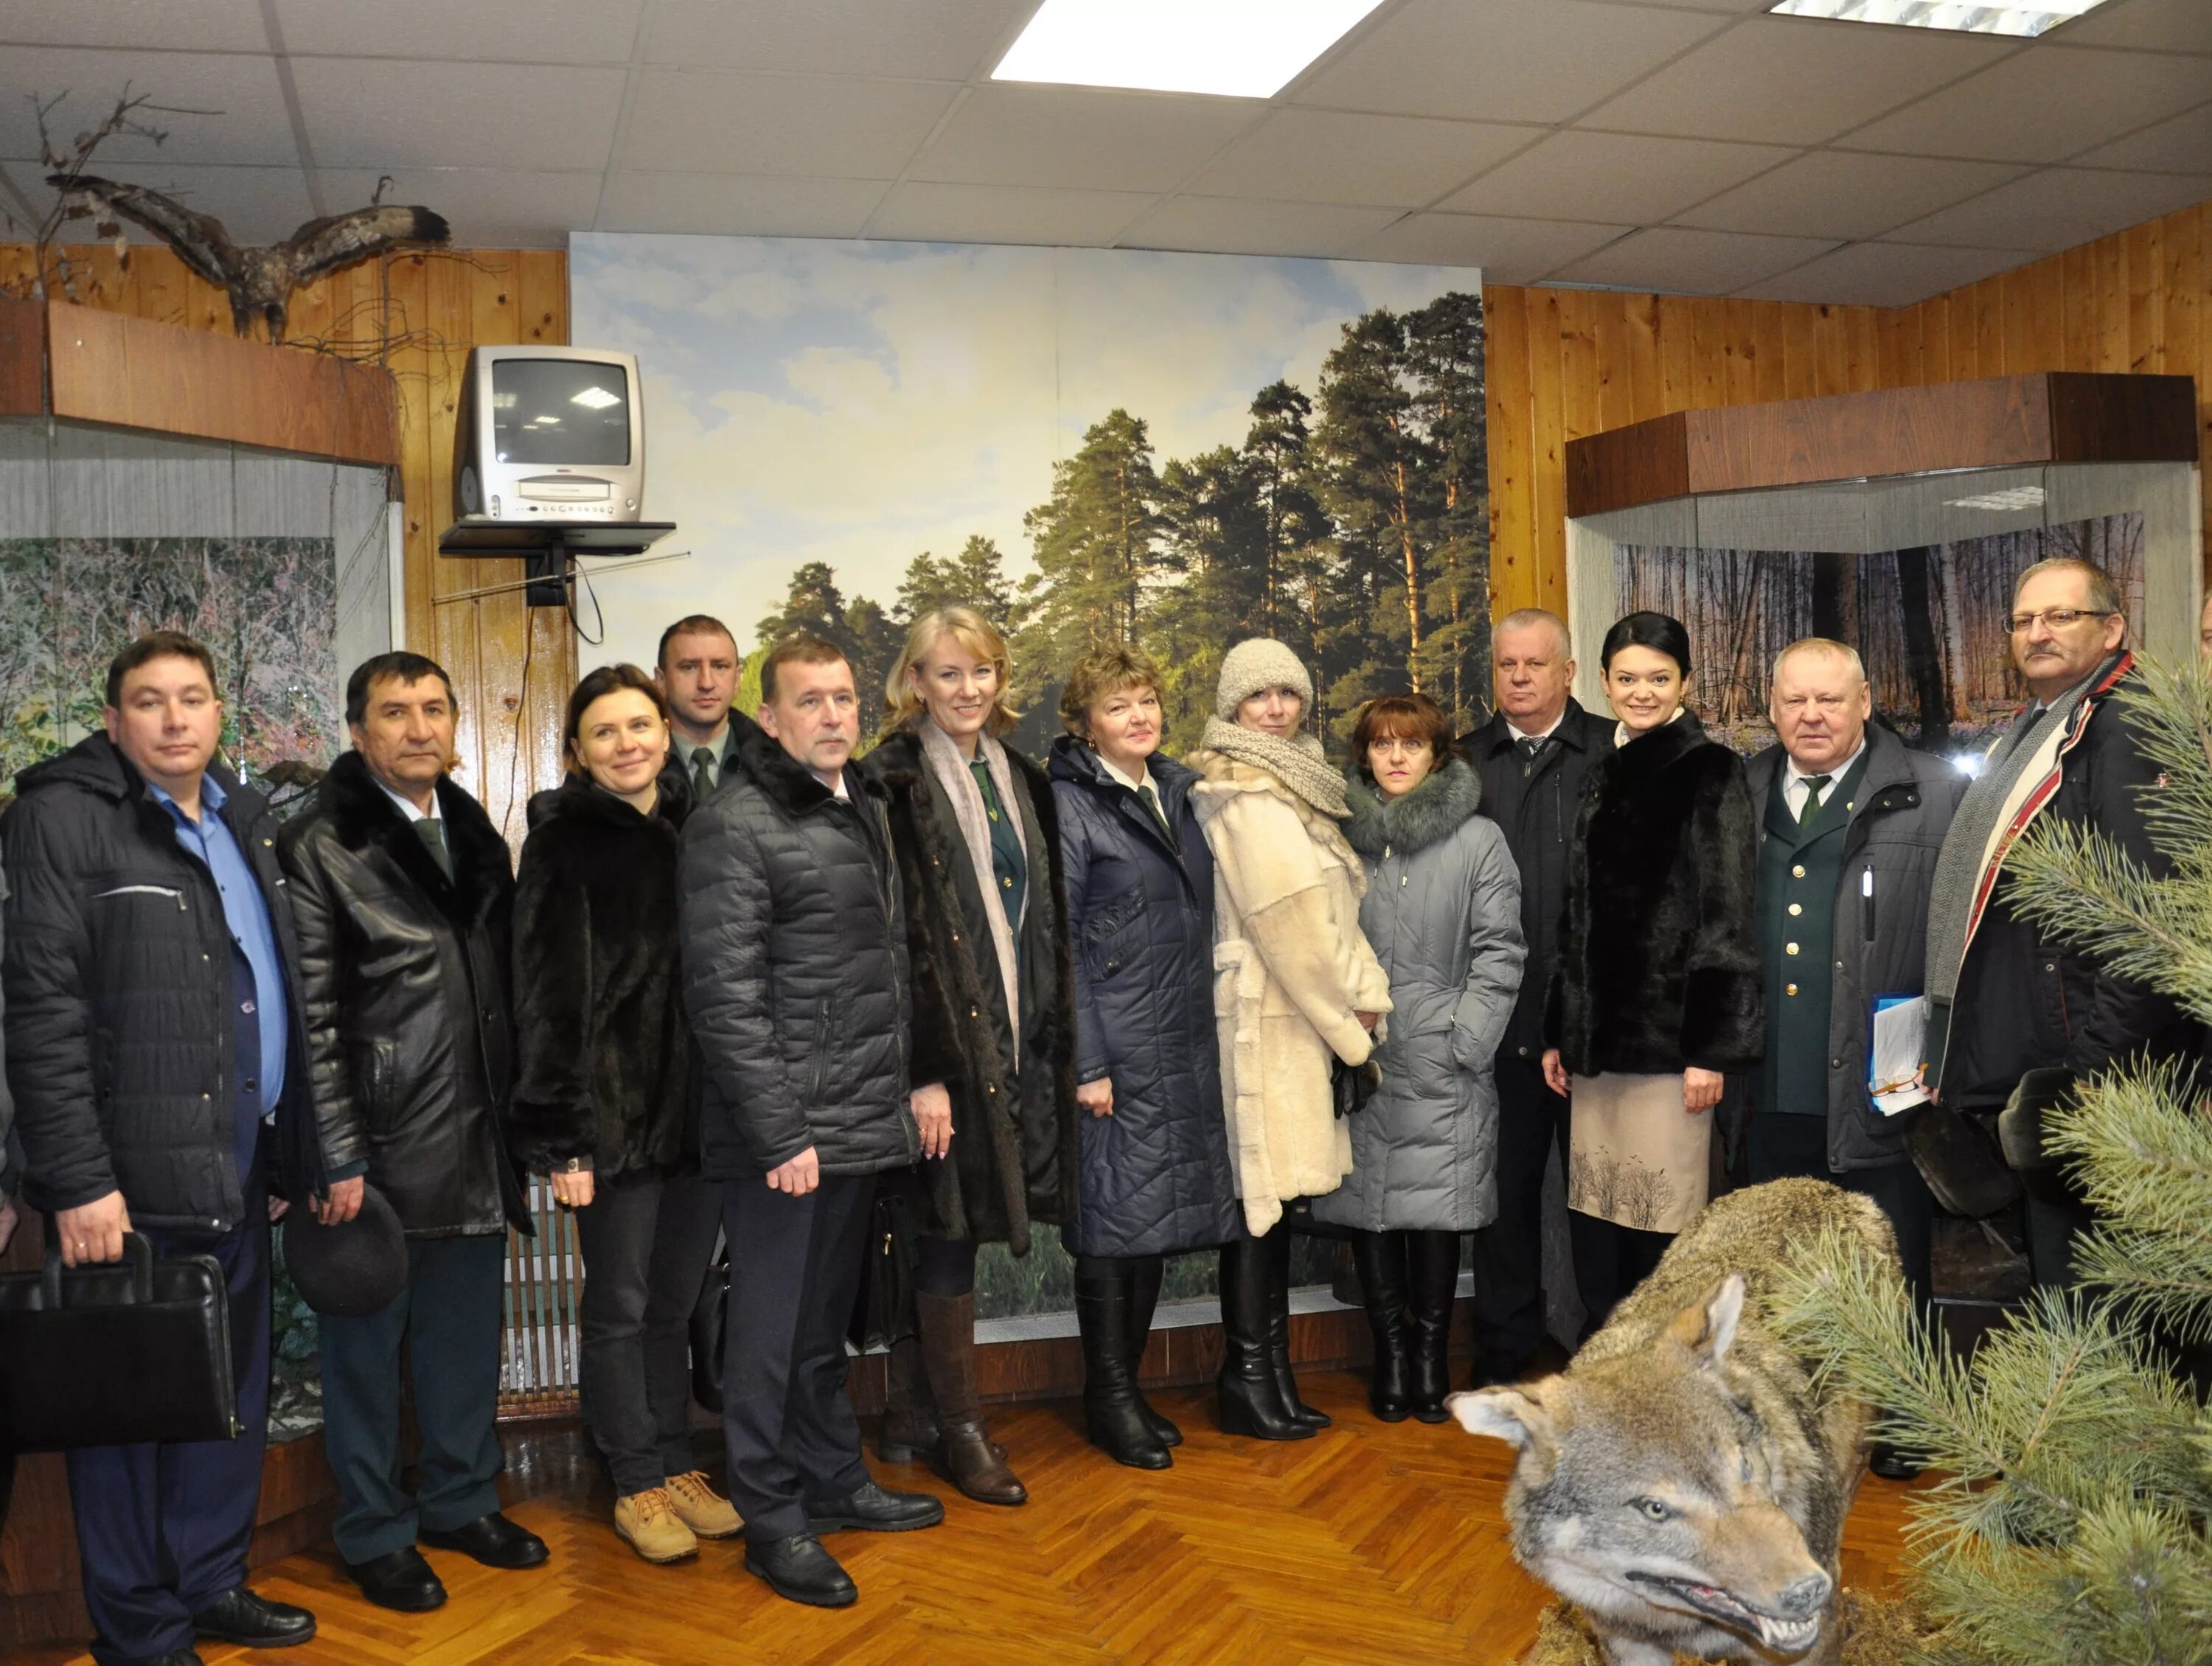
[(1681, 1108), (1681, 1071), (1577, 1075), (1566, 1206), (1639, 1232), (1679, 1232), (1705, 1208), (1712, 1111)]

